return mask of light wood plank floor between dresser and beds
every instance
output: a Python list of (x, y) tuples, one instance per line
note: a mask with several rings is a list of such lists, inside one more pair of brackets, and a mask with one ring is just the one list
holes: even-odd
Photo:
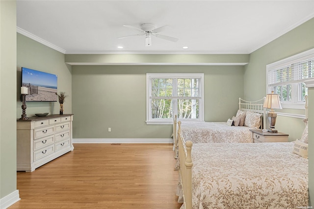
[(74, 151), (17, 172), (10, 209), (179, 209), (171, 144), (74, 144)]

